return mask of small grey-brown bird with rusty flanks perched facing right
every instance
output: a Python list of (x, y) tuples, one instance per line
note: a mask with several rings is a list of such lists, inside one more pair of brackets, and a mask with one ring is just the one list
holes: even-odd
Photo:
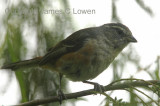
[(130, 42), (137, 42), (128, 27), (121, 23), (109, 23), (74, 32), (57, 43), (42, 57), (4, 65), (2, 69), (39, 66), (65, 75), (72, 81), (97, 77)]

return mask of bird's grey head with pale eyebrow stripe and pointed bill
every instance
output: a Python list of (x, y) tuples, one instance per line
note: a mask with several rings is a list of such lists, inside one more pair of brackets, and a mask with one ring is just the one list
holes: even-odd
[(130, 42), (137, 42), (129, 28), (121, 23), (109, 23), (101, 26), (109, 43), (123, 49)]

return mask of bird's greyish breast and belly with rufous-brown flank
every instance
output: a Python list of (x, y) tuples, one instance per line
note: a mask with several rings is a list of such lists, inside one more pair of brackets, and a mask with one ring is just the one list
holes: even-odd
[(76, 52), (62, 56), (56, 69), (73, 81), (93, 79), (103, 72), (113, 60), (109, 46), (96, 39), (88, 40)]

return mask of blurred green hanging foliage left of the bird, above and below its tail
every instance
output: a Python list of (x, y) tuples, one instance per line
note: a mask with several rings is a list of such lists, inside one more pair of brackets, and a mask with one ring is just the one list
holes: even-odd
[[(6, 13), (1, 23), (6, 33), (0, 46), (0, 58), (5, 60), (4, 64), (42, 56), (47, 49), (62, 40), (66, 32), (73, 30), (69, 14), (45, 14), (45, 11), (52, 8), (50, 2), (50, 0), (17, 1), (16, 4), (6, 2)], [(62, 10), (69, 7), (67, 1), (58, 3)], [(46, 15), (51, 17), (51, 20), (47, 20), (48, 23), (52, 23), (51, 28), (45, 25)], [(36, 47), (32, 47), (34, 45)], [(21, 89), (21, 102), (57, 95), (59, 76), (56, 72), (32, 68), (18, 70), (15, 74)], [(62, 81), (64, 92), (67, 92), (67, 80)], [(57, 103), (48, 105), (57, 106)]]

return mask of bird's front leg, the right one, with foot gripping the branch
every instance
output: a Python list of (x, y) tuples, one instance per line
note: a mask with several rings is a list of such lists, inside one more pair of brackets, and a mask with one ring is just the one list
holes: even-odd
[(90, 81), (82, 81), (83, 83), (94, 85), (94, 90), (100, 93), (103, 93), (105, 91), (104, 86), (96, 83), (96, 82), (90, 82)]

